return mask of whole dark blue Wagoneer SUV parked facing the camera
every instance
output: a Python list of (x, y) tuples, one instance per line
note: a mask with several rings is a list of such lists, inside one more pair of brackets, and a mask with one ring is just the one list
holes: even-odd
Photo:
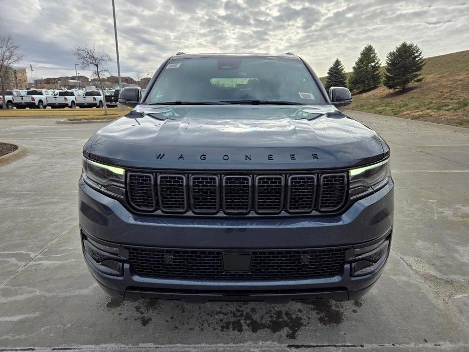
[(390, 251), (389, 147), (285, 55), (178, 54), (83, 149), (91, 274), (128, 300), (355, 299)]

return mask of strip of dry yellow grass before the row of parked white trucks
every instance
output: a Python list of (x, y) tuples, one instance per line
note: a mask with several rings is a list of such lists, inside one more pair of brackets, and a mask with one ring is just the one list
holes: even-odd
[(13, 110), (0, 110), (0, 117), (82, 117), (92, 118), (99, 117), (117, 118), (125, 115), (130, 108), (126, 111), (118, 111), (117, 108), (108, 108), (107, 116), (104, 115), (103, 109), (13, 109)]

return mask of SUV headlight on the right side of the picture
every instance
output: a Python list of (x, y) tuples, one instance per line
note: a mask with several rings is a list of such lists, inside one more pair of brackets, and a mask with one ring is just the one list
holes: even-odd
[(391, 178), (389, 159), (348, 171), (350, 175), (350, 199), (376, 192)]

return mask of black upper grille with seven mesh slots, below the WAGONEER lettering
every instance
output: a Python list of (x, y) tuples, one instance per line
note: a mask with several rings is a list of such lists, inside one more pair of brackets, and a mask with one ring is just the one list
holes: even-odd
[[(167, 214), (275, 215), (336, 212), (345, 203), (347, 174), (175, 174), (128, 172), (130, 204)], [(156, 202), (155, 199), (158, 199)], [(157, 204), (156, 204), (157, 203)]]

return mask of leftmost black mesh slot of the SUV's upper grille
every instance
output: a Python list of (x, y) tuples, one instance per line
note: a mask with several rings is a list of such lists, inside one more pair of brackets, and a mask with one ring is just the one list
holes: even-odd
[(140, 210), (153, 210), (155, 208), (153, 180), (152, 173), (129, 173), (129, 200), (135, 208)]

